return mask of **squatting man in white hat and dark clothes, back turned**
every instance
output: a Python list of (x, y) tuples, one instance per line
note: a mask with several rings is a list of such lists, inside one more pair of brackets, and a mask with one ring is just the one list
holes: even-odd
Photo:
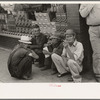
[(8, 70), (12, 77), (28, 80), (32, 74), (32, 59), (38, 59), (38, 55), (27, 48), (31, 44), (30, 37), (21, 36), (19, 42), (9, 55)]

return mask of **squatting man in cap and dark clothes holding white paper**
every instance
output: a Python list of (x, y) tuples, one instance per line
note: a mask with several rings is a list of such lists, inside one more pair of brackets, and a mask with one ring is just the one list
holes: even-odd
[(43, 48), (43, 53), (45, 54), (45, 66), (41, 69), (42, 71), (52, 68), (53, 72), (51, 74), (57, 73), (56, 67), (52, 62), (51, 55), (54, 52), (61, 54), (62, 50), (59, 46), (62, 43), (62, 38), (63, 37), (61, 37), (61, 34), (58, 34), (58, 32), (56, 32), (49, 38), (47, 44), (45, 44), (45, 47)]

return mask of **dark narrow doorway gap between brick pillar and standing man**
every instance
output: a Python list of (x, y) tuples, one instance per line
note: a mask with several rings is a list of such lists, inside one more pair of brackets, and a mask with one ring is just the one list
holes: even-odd
[(92, 67), (92, 47), (90, 43), (90, 38), (89, 38), (89, 33), (88, 33), (88, 28), (89, 26), (86, 24), (86, 19), (82, 18), (79, 15), (80, 19), (80, 36), (81, 36), (81, 41), (84, 46), (84, 61), (83, 61), (83, 70), (84, 72), (93, 70)]

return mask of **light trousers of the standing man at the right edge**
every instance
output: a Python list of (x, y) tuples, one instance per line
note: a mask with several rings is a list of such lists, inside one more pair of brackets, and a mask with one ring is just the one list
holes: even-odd
[(89, 34), (93, 49), (93, 71), (96, 77), (100, 77), (100, 26), (90, 26)]

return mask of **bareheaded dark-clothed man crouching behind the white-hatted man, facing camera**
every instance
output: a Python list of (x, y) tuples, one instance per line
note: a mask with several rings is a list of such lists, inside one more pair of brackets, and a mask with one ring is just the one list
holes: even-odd
[(37, 24), (32, 27), (32, 35), (32, 45), (30, 45), (29, 48), (39, 56), (39, 67), (41, 68), (44, 66), (45, 56), (43, 54), (43, 46), (47, 42), (47, 37), (40, 32), (40, 28)]

